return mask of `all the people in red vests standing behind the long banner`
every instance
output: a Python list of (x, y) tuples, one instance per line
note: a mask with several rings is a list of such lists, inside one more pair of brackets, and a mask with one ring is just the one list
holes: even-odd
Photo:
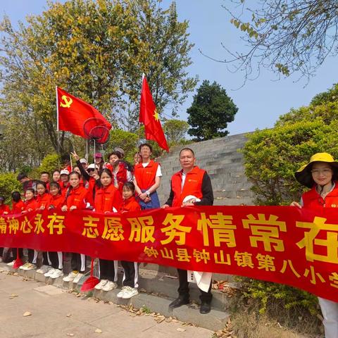
[[(42, 173), (41, 180), (30, 180), (26, 175), (18, 175), (23, 183), (25, 201), (20, 200), (20, 193), (12, 194), (12, 209), (4, 205), (4, 197), (0, 196), (0, 213), (20, 213), (35, 209), (60, 208), (61, 211), (73, 211), (91, 206), (98, 212), (141, 211), (149, 208), (160, 208), (156, 189), (161, 183), (161, 165), (151, 160), (152, 148), (149, 144), (141, 144), (139, 153), (134, 156), (134, 166), (123, 160), (123, 149), (115, 149), (104, 163), (101, 154), (96, 154), (95, 163), (87, 165), (87, 161), (73, 154), (77, 166), (71, 173), (68, 168), (55, 170), (52, 181), (49, 173)], [(181, 170), (174, 173), (170, 181), (170, 195), (161, 206), (186, 207), (213, 205), (213, 189), (211, 179), (205, 170), (196, 165), (194, 151), (183, 148), (179, 161)], [(294, 201), (292, 206), (301, 208), (326, 208), (338, 205), (338, 163), (327, 153), (315, 154), (306, 165), (296, 173), (296, 180), (311, 188), (301, 197), (300, 203)], [(105, 199), (102, 199), (102, 196)], [(19, 254), (22, 254), (22, 251)], [(16, 258), (15, 250), (13, 256)], [(36, 251), (28, 249), (28, 262), (21, 268), (36, 268)], [(84, 255), (72, 254), (73, 271), (63, 278), (65, 281), (77, 282), (84, 272)], [(100, 259), (101, 281), (96, 289), (111, 290), (116, 287), (117, 262)], [(46, 277), (62, 275), (62, 253), (44, 253), (44, 265), (52, 267), (46, 271)], [(137, 263), (121, 262), (124, 268), (123, 289), (119, 297), (130, 298), (137, 294)], [(44, 267), (42, 265), (42, 267)], [(41, 272), (44, 272), (40, 268)], [(37, 270), (37, 272), (39, 272)], [(189, 303), (189, 282), (187, 271), (178, 270), (179, 296), (172, 303), (176, 308)], [(202, 290), (203, 289), (203, 290)], [(201, 288), (201, 313), (211, 310), (211, 280)], [(338, 337), (338, 303), (319, 299), (323, 312), (325, 337)]]

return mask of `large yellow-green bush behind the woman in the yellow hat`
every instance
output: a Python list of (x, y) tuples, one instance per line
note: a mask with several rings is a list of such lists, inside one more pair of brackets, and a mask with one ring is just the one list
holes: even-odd
[(292, 109), (272, 129), (249, 134), (244, 165), (257, 203), (299, 201), (305, 188), (296, 182), (294, 173), (315, 153), (330, 152), (338, 158), (337, 127), (338, 100)]

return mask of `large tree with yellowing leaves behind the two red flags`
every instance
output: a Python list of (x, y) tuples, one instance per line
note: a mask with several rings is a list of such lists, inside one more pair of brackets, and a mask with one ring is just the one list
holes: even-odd
[[(112, 123), (135, 129), (142, 72), (158, 112), (169, 102), (173, 113), (196, 79), (188, 23), (177, 20), (175, 3), (159, 0), (70, 0), (49, 2), (41, 15), (13, 28), (0, 24), (1, 117), (25, 114), (41, 161), (50, 148), (63, 148), (56, 134), (55, 86), (89, 102)], [(1, 121), (0, 121), (1, 122)]]

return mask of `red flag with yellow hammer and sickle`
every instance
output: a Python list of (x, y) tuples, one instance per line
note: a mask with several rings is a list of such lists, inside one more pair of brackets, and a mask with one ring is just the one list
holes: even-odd
[[(84, 133), (84, 123), (92, 118), (101, 120), (97, 120), (99, 125), (104, 125), (108, 130), (111, 129), (111, 124), (97, 109), (58, 87), (56, 87), (56, 106), (58, 113), (57, 130), (65, 130), (87, 139), (88, 135)], [(95, 125), (95, 120), (92, 121)]]

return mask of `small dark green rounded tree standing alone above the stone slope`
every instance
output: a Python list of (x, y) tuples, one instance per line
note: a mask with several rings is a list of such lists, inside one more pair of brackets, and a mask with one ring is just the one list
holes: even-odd
[(220, 84), (204, 80), (194, 95), (192, 106), (187, 109), (188, 123), (192, 127), (188, 134), (196, 136), (198, 141), (226, 136), (227, 123), (234, 120), (237, 111), (237, 106)]

